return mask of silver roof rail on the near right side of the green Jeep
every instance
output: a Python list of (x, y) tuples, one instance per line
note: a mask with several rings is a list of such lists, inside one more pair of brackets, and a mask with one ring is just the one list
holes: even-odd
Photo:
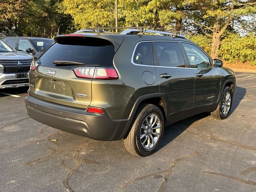
[(170, 36), (173, 36), (173, 37), (188, 39), (183, 35), (177, 34), (177, 33), (180, 33), (180, 32), (166, 32), (166, 31), (138, 30), (138, 29), (127, 29), (127, 30), (124, 30), (123, 32), (121, 32), (122, 35), (136, 35), (138, 33), (156, 33), (156, 34), (170, 35)]

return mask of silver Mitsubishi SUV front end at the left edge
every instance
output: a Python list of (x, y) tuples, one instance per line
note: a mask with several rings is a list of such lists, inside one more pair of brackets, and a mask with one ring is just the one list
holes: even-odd
[(0, 40), (0, 89), (29, 86), (32, 59), (30, 54), (16, 52)]

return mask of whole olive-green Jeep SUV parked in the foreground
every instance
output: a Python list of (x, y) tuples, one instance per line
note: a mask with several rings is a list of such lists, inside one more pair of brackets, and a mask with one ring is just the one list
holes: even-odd
[(234, 72), (184, 36), (128, 29), (60, 35), (33, 60), (28, 115), (95, 140), (124, 140), (135, 155), (159, 146), (164, 127), (202, 112), (230, 114)]

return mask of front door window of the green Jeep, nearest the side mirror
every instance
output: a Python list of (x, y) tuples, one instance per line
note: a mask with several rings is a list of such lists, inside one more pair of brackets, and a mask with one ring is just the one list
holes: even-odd
[(182, 45), (188, 56), (191, 68), (210, 68), (210, 60), (204, 52), (192, 44), (182, 43)]

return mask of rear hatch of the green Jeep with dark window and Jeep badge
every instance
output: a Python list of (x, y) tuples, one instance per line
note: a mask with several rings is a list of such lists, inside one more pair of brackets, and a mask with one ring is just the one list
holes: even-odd
[(92, 100), (92, 78), (80, 78), (74, 68), (112, 66), (115, 47), (102, 38), (62, 36), (38, 59), (30, 71), (30, 94), (36, 98), (87, 108)]

